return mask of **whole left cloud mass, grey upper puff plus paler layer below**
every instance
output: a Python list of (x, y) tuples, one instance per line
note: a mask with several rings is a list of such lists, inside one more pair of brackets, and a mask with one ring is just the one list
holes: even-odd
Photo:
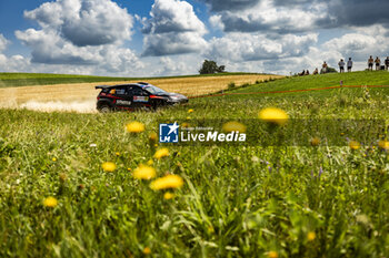
[(24, 17), (41, 27), (16, 31), (31, 49), (33, 71), (129, 76), (144, 68), (132, 50), (122, 47), (131, 37), (132, 17), (111, 0), (57, 0), (26, 11)]

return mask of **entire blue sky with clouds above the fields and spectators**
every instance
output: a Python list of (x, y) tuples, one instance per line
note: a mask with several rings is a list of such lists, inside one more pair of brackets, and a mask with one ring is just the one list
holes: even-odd
[(388, 0), (0, 0), (0, 72), (286, 74), (389, 55)]

